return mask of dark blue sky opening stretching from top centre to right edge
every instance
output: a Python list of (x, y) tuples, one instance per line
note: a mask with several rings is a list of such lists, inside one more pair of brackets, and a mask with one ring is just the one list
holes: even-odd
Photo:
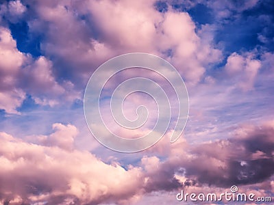
[[(245, 4), (239, 1), (232, 3), (235, 8)], [(231, 15), (222, 20), (216, 19), (214, 10), (203, 3), (191, 7), (184, 2), (171, 1), (170, 5), (177, 12), (188, 12), (197, 29), (204, 24), (216, 25), (219, 29), (216, 30), (214, 41), (224, 45), (224, 53), (249, 51), (256, 46), (274, 51), (274, 1), (259, 1), (253, 8), (240, 13), (230, 10)], [(262, 40), (258, 36), (262, 36)]]

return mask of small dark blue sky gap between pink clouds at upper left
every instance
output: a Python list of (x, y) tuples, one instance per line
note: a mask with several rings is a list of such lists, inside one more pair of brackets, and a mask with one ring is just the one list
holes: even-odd
[(18, 51), (30, 53), (34, 57), (42, 55), (40, 50), (41, 37), (29, 33), (27, 22), (10, 23), (9, 26), (12, 32), (12, 38), (16, 40)]

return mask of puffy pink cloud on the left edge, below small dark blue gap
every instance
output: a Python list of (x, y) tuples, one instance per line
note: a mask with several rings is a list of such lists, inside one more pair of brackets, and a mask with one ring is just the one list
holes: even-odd
[(6, 113), (18, 113), (25, 94), (31, 94), (36, 103), (56, 105), (62, 101), (79, 98), (71, 81), (58, 82), (53, 74), (52, 62), (46, 57), (33, 59), (16, 47), (10, 30), (0, 27), (0, 109)]

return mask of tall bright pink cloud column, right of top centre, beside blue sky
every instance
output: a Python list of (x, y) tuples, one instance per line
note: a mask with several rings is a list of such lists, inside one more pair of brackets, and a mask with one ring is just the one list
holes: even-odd
[[(181, 25), (181, 26), (178, 26)], [(195, 24), (187, 13), (166, 13), (162, 23), (164, 35), (162, 47), (173, 52), (171, 61), (181, 71), (183, 76), (193, 83), (197, 83), (205, 68), (197, 59), (199, 52), (199, 38), (195, 34)]]

